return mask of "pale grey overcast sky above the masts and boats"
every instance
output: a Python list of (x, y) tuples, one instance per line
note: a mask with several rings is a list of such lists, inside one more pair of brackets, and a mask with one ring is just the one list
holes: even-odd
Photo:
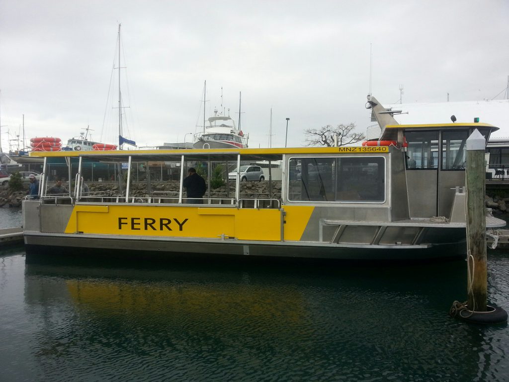
[[(25, 137), (67, 141), (90, 125), (115, 143), (108, 103), (122, 23), (122, 93), (138, 146), (187, 142), (222, 104), (250, 147), (302, 146), (303, 130), (371, 124), (381, 103), (502, 99), (509, 75), (509, 2), (51, 1), (0, 2), (2, 148)], [(115, 66), (118, 64), (115, 63)], [(118, 78), (118, 70), (113, 73)], [(127, 80), (127, 81), (126, 81)], [(118, 89), (109, 91), (117, 102)], [(497, 96), (498, 95), (498, 96)], [(227, 112), (228, 113), (228, 112)], [(480, 116), (482, 118), (482, 116)], [(489, 122), (485, 121), (484, 122)], [(22, 134), (22, 132), (21, 132)]]

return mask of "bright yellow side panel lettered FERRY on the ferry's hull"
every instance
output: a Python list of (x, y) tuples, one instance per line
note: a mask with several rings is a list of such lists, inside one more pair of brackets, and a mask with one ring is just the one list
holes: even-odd
[[(299, 240), (314, 207), (285, 206), (286, 240)], [(186, 206), (76, 206), (66, 233), (281, 240), (281, 211)]]

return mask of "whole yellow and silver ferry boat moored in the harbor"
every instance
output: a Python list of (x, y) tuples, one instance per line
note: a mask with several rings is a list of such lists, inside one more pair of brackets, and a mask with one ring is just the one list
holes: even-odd
[[(497, 127), (474, 122), (399, 125), (374, 97), (367, 106), (381, 135), (360, 147), (38, 153), (44, 157), (41, 196), (23, 201), (26, 251), (349, 260), (464, 257), (465, 142), (475, 129), (488, 141)], [(229, 180), (228, 169), (240, 168), (241, 162), (268, 163), (268, 178), (242, 182), (237, 175)], [(159, 163), (161, 175), (172, 171), (172, 180), (156, 182), (150, 172), (140, 176), (151, 163)], [(281, 163), (280, 181), (272, 179), (271, 163)], [(191, 167), (206, 178), (203, 204), (186, 198), (182, 184)], [(110, 168), (121, 175), (114, 189), (81, 194), (82, 177)], [(52, 185), (49, 174), (56, 171), (74, 179), (67, 195), (46, 193)], [(221, 174), (226, 184), (218, 187), (214, 181)], [(259, 188), (253, 192), (254, 187)], [(134, 194), (140, 188), (143, 192)], [(487, 229), (504, 225), (487, 215)]]

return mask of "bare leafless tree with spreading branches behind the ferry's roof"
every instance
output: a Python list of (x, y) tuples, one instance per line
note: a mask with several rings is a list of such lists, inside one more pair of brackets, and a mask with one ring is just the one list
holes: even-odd
[(355, 132), (355, 123), (348, 125), (331, 125), (304, 130), (306, 146), (334, 146), (334, 135), (337, 135), (337, 145), (345, 146), (366, 139), (361, 132)]

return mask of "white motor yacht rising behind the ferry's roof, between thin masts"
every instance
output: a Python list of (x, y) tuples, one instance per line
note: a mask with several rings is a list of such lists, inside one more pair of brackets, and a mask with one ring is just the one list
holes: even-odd
[(218, 114), (208, 119), (208, 126), (204, 132), (195, 134), (195, 149), (232, 149), (247, 148), (247, 136), (235, 125), (230, 116)]

